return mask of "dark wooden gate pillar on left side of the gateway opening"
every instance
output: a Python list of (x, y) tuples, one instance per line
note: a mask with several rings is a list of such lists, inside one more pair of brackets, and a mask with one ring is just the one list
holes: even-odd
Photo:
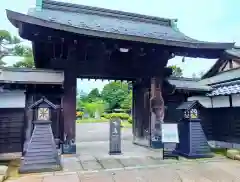
[(64, 144), (63, 153), (76, 153), (76, 50), (69, 48), (67, 63), (64, 70), (64, 96), (63, 96), (63, 119), (64, 119)]

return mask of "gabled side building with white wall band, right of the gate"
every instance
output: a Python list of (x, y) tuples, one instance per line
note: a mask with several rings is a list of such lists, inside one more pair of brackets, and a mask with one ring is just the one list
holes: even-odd
[(206, 94), (211, 100), (211, 136), (215, 146), (240, 147), (240, 49), (225, 51), (203, 76), (200, 84), (212, 87)]

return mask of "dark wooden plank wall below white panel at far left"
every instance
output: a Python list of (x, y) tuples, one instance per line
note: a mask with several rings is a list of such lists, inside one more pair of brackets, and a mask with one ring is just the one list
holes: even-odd
[(0, 109), (0, 153), (23, 151), (24, 109)]

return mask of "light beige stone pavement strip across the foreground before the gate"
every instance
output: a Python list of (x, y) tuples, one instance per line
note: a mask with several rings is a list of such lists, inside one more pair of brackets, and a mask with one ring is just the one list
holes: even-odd
[(240, 163), (228, 159), (166, 162), (158, 166), (101, 171), (55, 172), (22, 176), (7, 182), (234, 182)]

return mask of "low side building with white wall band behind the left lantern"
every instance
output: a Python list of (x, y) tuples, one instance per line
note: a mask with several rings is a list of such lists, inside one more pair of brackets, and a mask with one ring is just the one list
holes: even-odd
[[(28, 107), (43, 96), (61, 106), (63, 81), (61, 71), (0, 68), (1, 160), (22, 156), (33, 129)], [(55, 138), (63, 137), (60, 120), (54, 119), (52, 123)]]

